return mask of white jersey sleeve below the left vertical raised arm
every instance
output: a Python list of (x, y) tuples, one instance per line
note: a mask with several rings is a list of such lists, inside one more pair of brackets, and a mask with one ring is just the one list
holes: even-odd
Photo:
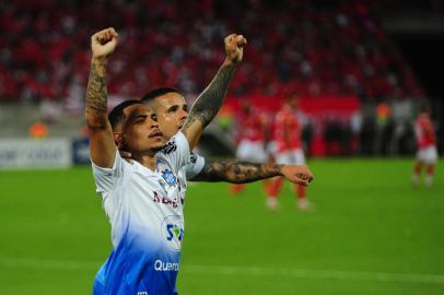
[(102, 194), (108, 193), (114, 189), (115, 185), (118, 182), (117, 179), (122, 177), (126, 166), (125, 160), (121, 158), (117, 150), (112, 168), (100, 167), (92, 161), (91, 164), (93, 167), (96, 191)]

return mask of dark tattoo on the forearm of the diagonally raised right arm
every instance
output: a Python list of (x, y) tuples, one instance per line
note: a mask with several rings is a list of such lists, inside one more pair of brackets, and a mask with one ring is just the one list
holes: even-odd
[(196, 120), (202, 123), (202, 128), (211, 122), (223, 103), (235, 69), (236, 66), (234, 64), (224, 64), (219, 69), (213, 81), (211, 81), (210, 85), (208, 85), (194, 104), (184, 123), (184, 133)]

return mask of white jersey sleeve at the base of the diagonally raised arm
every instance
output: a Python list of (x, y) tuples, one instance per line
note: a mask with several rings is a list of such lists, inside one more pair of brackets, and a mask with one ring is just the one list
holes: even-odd
[(177, 173), (189, 163), (190, 151), (188, 140), (184, 133), (177, 132), (162, 149), (161, 153), (168, 158), (173, 169)]

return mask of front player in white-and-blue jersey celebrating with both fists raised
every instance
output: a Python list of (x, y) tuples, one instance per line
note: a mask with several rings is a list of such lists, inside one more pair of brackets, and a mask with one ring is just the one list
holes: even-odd
[[(114, 246), (96, 275), (94, 294), (177, 294), (175, 282), (185, 233), (178, 173), (224, 95), (217, 99), (199, 97), (180, 132), (166, 144), (156, 115), (141, 103), (122, 108), (118, 116), (121, 132), (113, 133), (105, 69), (117, 42), (114, 28), (91, 38), (85, 119), (94, 179), (112, 224)], [(229, 50), (222, 79), (231, 80), (246, 40), (242, 35), (230, 35), (225, 44)], [(135, 161), (125, 161), (116, 144), (129, 151)]]

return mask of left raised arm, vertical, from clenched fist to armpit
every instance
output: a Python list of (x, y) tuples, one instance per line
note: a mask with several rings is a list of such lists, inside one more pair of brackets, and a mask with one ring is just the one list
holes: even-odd
[(100, 167), (113, 167), (116, 144), (108, 121), (105, 68), (108, 56), (116, 48), (118, 34), (106, 28), (91, 37), (91, 72), (87, 80), (85, 119), (90, 134), (91, 160)]

